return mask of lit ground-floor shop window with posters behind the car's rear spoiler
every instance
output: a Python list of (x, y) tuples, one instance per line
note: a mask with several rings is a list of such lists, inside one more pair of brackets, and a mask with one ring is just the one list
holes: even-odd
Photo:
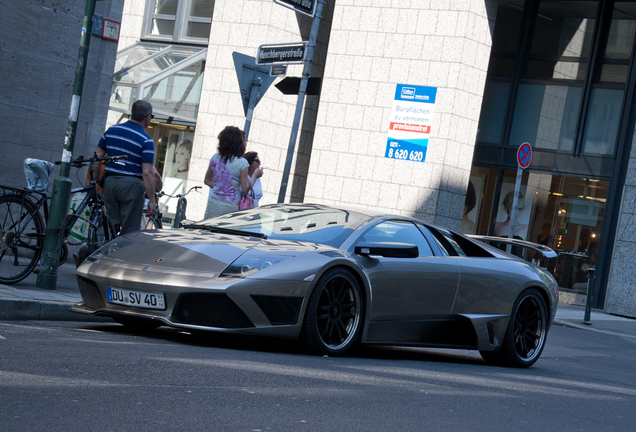
[[(494, 168), (473, 167), (462, 234), (508, 237), (516, 172), (504, 171), (500, 186), (498, 174)], [(523, 174), (513, 236), (558, 253), (548, 270), (561, 288), (587, 288), (587, 270), (596, 266), (602, 240), (608, 188), (609, 182), (599, 179)]]

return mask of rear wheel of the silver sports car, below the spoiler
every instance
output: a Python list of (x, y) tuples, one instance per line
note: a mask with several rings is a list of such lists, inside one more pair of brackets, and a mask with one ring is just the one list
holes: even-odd
[(515, 301), (498, 351), (480, 351), (494, 365), (527, 368), (541, 356), (548, 335), (548, 312), (539, 292), (530, 288)]

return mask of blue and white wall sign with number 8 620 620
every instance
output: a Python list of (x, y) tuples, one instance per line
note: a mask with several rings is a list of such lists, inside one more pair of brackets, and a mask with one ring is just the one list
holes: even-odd
[(397, 84), (384, 157), (424, 162), (437, 87)]

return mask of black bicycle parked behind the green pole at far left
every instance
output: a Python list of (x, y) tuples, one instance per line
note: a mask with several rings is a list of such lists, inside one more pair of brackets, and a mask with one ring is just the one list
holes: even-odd
[[(71, 166), (81, 168), (93, 167), (94, 163), (112, 163), (126, 156), (92, 157), (86, 159), (80, 156), (71, 160)], [(61, 164), (61, 162), (55, 162)], [(60, 263), (66, 260), (68, 254), (67, 239), (78, 220), (89, 224), (86, 239), (88, 252), (93, 253), (104, 244), (116, 237), (110, 219), (105, 211), (105, 204), (101, 194), (97, 193), (97, 182), (93, 178), (93, 170), (89, 168), (90, 185), (71, 190), (71, 194), (83, 192), (86, 195), (79, 205), (71, 211), (64, 223), (63, 243)], [(36, 271), (45, 237), (44, 221), (48, 220), (48, 200), (50, 194), (46, 192), (48, 178), (44, 181), (42, 191), (35, 189), (20, 189), (1, 186), (0, 195), (0, 283), (14, 284), (25, 279), (31, 272)], [(90, 209), (90, 217), (83, 216), (86, 208)], [(42, 218), (42, 212), (44, 219)], [(77, 243), (81, 244), (84, 241)]]

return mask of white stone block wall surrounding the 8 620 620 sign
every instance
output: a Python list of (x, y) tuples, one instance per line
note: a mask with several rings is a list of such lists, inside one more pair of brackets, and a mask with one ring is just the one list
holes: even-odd
[[(338, 0), (304, 201), (458, 230), (495, 13), (490, 1)], [(384, 157), (396, 84), (438, 88), (424, 163)]]

